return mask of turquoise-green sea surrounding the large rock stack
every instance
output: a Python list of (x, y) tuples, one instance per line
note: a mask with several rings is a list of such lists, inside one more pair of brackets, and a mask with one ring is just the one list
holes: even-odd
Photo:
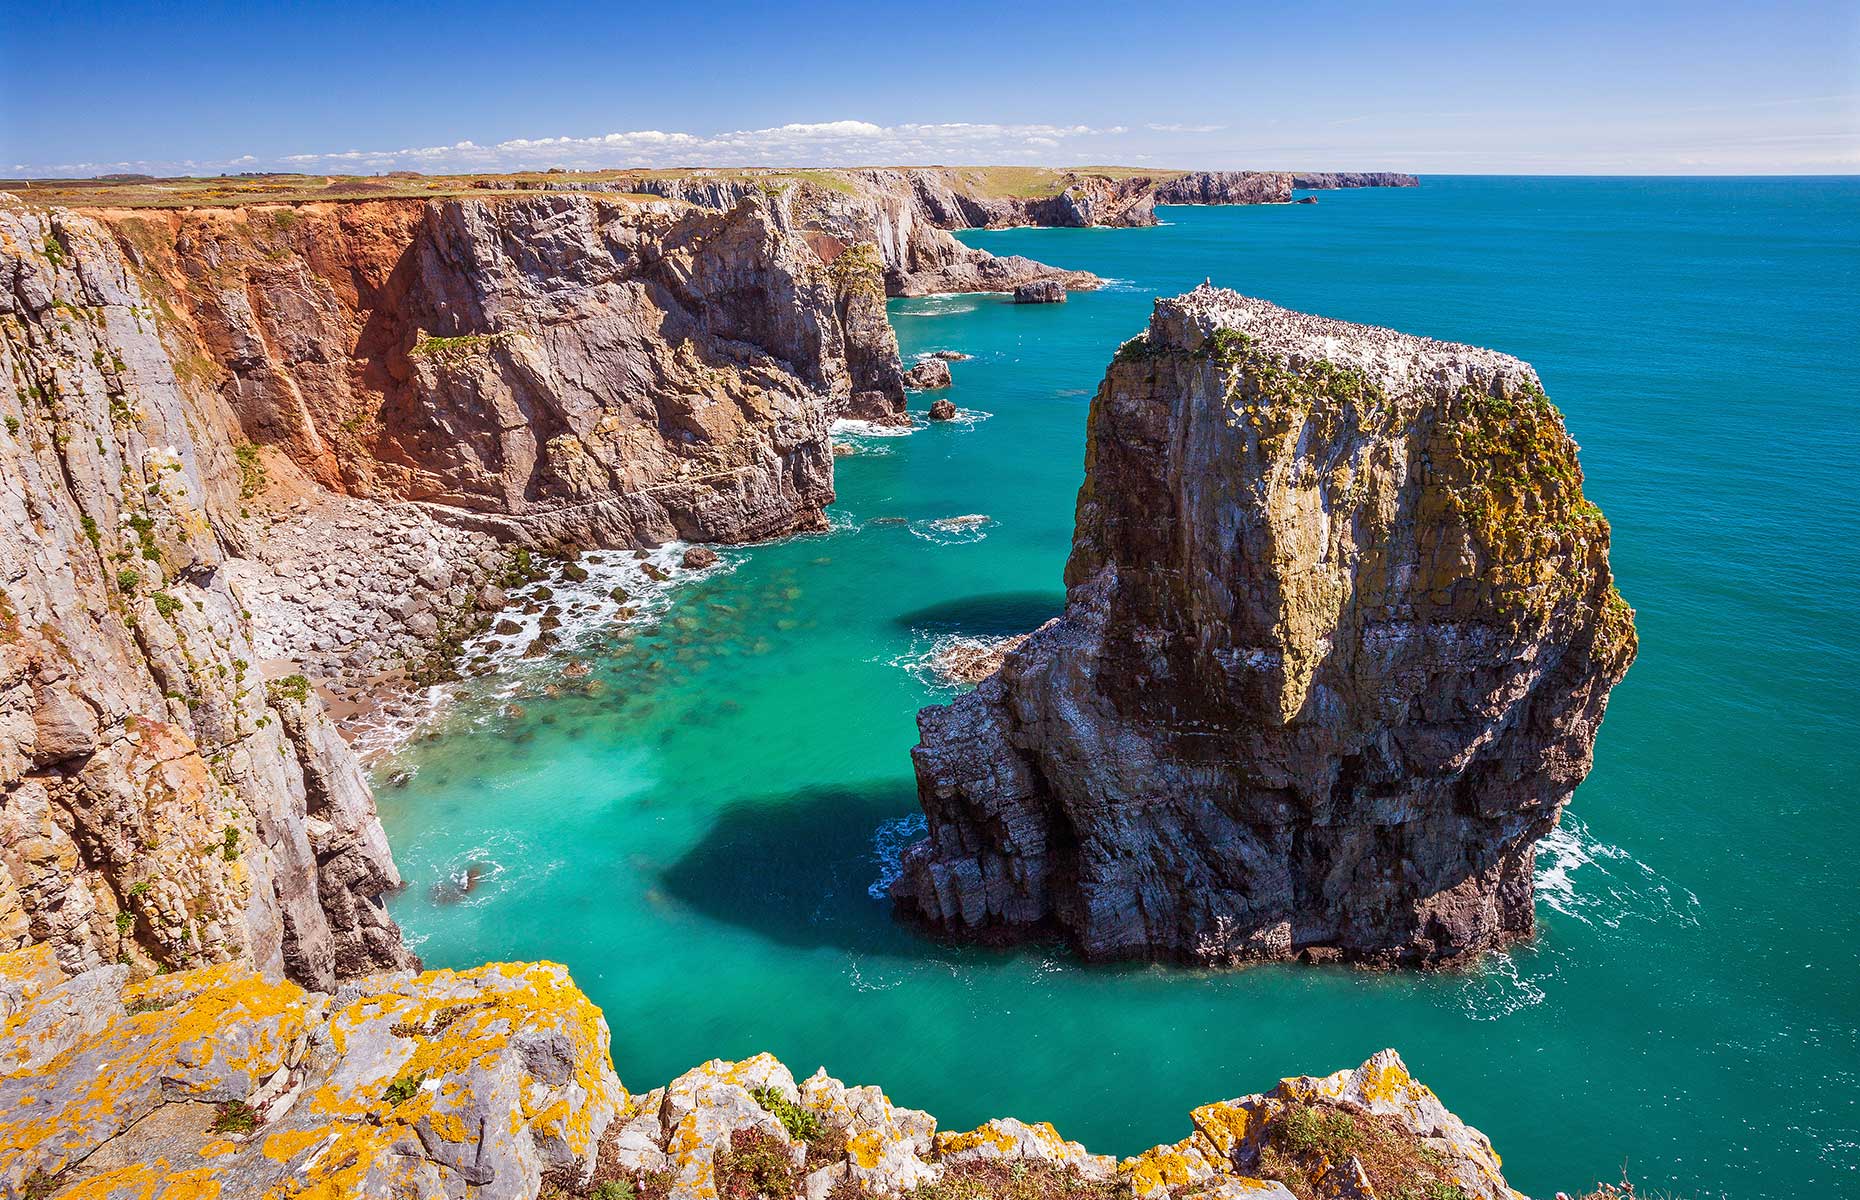
[[(1395, 1046), (1533, 1194), (1624, 1159), (1685, 1196), (1860, 1193), (1860, 180), (1430, 179), (1162, 216), (967, 234), (1118, 283), (895, 301), (906, 355), (975, 355), (971, 420), (859, 439), (835, 532), (727, 551), (664, 620), (595, 634), (588, 679), (547, 696), (560, 664), (530, 664), (521, 713), (467, 703), (383, 767), (415, 770), (379, 798), (418, 951), (567, 962), (636, 1088), (768, 1049), (947, 1127), (1131, 1153)], [(1533, 361), (1614, 523), (1641, 660), (1546, 843), (1542, 938), (1475, 973), (1084, 969), (930, 945), (869, 893), (917, 811), (913, 714), (947, 696), (908, 668), (1060, 608), (1090, 393), (1203, 275)]]

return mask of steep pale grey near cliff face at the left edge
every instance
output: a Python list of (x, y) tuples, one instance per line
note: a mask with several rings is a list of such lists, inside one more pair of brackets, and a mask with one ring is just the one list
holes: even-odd
[(238, 422), (156, 320), (102, 227), (0, 207), (0, 947), (402, 966), (361, 768), (229, 582)]

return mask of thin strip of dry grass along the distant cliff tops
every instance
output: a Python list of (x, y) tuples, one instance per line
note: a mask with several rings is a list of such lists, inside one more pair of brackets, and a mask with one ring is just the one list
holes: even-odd
[[(616, 184), (629, 179), (716, 179), (725, 182), (813, 182), (831, 192), (856, 192), (856, 171), (874, 167), (660, 167), (610, 171), (513, 171), (467, 175), (100, 175), (95, 179), (0, 179), (0, 192), (11, 192), (33, 207), (69, 208), (197, 208), (238, 205), (299, 205), (311, 201), (366, 199), (445, 199), (497, 195), (504, 188), (536, 192), (580, 192), (588, 184)], [(1070, 177), (1170, 179), (1181, 171), (1140, 167), (891, 167), (949, 171), (952, 186), (975, 195), (1036, 199), (1056, 195)], [(608, 192), (608, 197), (657, 201), (658, 197)]]

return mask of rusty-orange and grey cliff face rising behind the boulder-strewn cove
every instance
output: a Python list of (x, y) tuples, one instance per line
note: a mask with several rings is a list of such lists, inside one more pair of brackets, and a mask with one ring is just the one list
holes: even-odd
[(876, 264), (757, 199), (112, 214), (240, 428), (316, 486), (526, 541), (820, 523), (828, 424), (902, 411)]

